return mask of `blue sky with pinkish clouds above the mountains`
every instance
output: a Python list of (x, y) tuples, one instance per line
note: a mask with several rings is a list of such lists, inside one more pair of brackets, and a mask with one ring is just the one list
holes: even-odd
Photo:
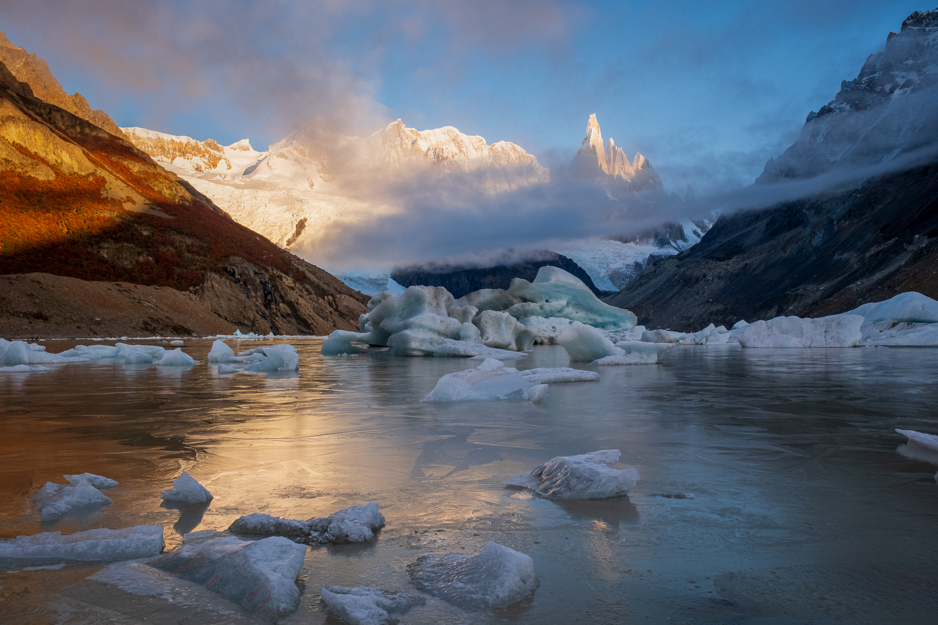
[(749, 185), (905, 0), (0, 0), (0, 29), (119, 126), (257, 149), (401, 118), (566, 164), (590, 113), (666, 190)]

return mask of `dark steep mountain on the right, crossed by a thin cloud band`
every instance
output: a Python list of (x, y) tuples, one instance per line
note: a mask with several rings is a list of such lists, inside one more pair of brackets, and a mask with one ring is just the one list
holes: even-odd
[[(809, 115), (760, 184), (889, 163), (933, 144), (936, 39), (938, 11), (913, 13), (885, 52)], [(938, 162), (922, 159), (905, 171), (863, 174), (846, 189), (720, 216), (700, 244), (658, 260), (607, 302), (640, 323), (689, 331), (840, 313), (904, 290), (936, 297)]]

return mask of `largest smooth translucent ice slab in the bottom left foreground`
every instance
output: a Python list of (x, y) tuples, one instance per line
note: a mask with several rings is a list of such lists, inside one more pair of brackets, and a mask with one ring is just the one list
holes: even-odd
[(299, 607), (295, 580), (305, 557), (305, 545), (280, 536), (247, 542), (228, 535), (183, 544), (150, 566), (276, 621)]

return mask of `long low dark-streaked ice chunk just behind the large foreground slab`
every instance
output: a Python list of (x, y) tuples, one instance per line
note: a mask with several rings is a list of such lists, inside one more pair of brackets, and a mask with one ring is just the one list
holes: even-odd
[(246, 514), (235, 519), (228, 531), (235, 534), (283, 536), (296, 543), (367, 543), (385, 527), (385, 515), (375, 501), (362, 503), (307, 521), (270, 514)]

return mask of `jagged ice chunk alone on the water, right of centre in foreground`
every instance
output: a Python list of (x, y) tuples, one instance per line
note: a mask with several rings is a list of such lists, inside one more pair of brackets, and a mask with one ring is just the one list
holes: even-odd
[(609, 499), (628, 495), (639, 480), (638, 469), (612, 469), (620, 452), (606, 449), (560, 455), (537, 469), (517, 473), (504, 484), (524, 486), (550, 499)]

